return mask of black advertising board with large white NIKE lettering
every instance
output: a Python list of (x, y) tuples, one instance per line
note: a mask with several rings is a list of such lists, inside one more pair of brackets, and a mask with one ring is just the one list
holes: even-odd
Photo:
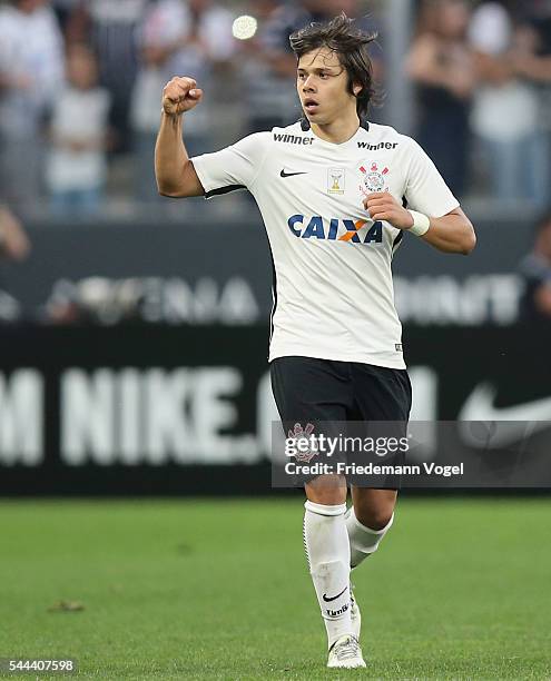
[[(420, 437), (429, 458), (442, 448), (444, 422), (490, 424), (463, 428), (463, 448), (480, 454), (488, 441), (503, 463), (504, 451), (518, 454), (527, 433), (551, 421), (541, 363), (549, 328), (409, 327), (404, 336), (412, 418), (426, 424)], [(2, 339), (1, 494), (269, 488), (277, 412), (264, 327), (7, 327)], [(547, 484), (544, 472), (516, 482)], [(476, 486), (476, 478), (443, 485)], [(514, 485), (506, 477), (504, 486)]]

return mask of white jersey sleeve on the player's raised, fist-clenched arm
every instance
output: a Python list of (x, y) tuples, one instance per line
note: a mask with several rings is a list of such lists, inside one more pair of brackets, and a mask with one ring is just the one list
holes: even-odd
[(252, 190), (266, 157), (268, 141), (269, 132), (256, 132), (215, 154), (191, 158), (205, 197), (239, 189)]

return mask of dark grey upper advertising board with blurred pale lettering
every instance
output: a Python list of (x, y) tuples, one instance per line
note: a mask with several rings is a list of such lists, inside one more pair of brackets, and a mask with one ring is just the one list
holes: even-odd
[[(531, 246), (530, 229), (503, 219), (496, 238), (495, 224), (476, 225), (469, 258), (442, 258), (419, 239), (404, 239), (393, 263), (404, 323), (508, 326), (519, 319), (524, 283), (516, 268)], [(0, 319), (240, 326), (269, 318), (272, 264), (254, 214), (220, 224), (207, 213), (200, 225), (31, 224), (29, 234), (30, 258), (2, 265)]]

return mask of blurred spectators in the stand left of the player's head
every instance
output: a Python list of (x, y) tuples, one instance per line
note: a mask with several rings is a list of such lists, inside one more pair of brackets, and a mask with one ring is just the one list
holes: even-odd
[[(154, 145), (175, 75), (205, 90), (190, 156), (299, 117), (289, 33), (356, 0), (0, 0), (0, 200), (92, 214), (119, 194), (158, 201)], [(247, 40), (233, 28), (253, 14)], [(362, 19), (363, 21), (363, 19)], [(254, 87), (252, 87), (252, 85)]]

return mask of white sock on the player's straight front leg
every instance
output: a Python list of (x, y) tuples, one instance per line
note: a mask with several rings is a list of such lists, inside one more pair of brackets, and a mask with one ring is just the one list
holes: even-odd
[(331, 648), (352, 632), (346, 504), (326, 506), (307, 501), (304, 507), (304, 547)]

